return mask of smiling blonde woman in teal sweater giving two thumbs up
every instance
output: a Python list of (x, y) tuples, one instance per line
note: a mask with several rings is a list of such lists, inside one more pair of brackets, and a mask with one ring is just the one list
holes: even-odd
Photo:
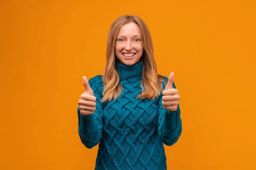
[[(88, 82), (78, 107), (79, 136), (87, 148), (99, 143), (96, 170), (166, 170), (163, 143), (180, 137), (180, 96), (157, 74), (148, 27), (125, 15), (111, 25), (103, 76)], [(166, 84), (167, 83), (167, 84)]]

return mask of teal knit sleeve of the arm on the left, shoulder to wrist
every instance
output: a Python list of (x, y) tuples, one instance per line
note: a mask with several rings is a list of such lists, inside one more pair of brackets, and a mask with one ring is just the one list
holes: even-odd
[(89, 79), (89, 85), (96, 97), (96, 110), (92, 115), (82, 115), (78, 107), (78, 133), (81, 142), (87, 148), (96, 146), (102, 137), (103, 107), (101, 102), (103, 92), (102, 76), (98, 75)]

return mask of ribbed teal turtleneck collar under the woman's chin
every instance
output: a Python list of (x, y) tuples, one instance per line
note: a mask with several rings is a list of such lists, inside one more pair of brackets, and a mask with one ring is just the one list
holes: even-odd
[(142, 61), (136, 62), (134, 65), (125, 65), (122, 62), (117, 63), (117, 72), (121, 80), (142, 77), (142, 69)]

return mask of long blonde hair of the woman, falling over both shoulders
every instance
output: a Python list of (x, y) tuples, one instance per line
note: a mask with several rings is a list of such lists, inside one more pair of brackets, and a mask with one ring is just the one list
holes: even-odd
[[(167, 83), (163, 76), (157, 74), (157, 65), (154, 60), (153, 44), (148, 27), (143, 20), (136, 15), (123, 15), (112, 23), (108, 33), (106, 54), (107, 61), (104, 74), (102, 76), (104, 83), (102, 102), (116, 99), (121, 94), (122, 87), (119, 85), (120, 77), (116, 69), (118, 58), (115, 55), (115, 44), (119, 29), (124, 24), (131, 22), (134, 22), (139, 26), (143, 44), (143, 54), (140, 58), (140, 60), (143, 62), (142, 81), (140, 83), (142, 87), (142, 94), (138, 95), (137, 98), (148, 98), (154, 100), (154, 98), (160, 95), (160, 93), (163, 91), (162, 83), (164, 82), (165, 85)], [(143, 89), (143, 85), (145, 90)]]

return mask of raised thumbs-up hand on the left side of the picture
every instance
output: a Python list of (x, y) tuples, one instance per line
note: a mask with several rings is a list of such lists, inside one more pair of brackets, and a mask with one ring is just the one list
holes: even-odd
[(85, 76), (83, 76), (83, 84), (85, 91), (81, 94), (78, 104), (80, 113), (82, 115), (93, 114), (96, 110), (96, 97), (93, 90), (90, 88), (89, 82)]

